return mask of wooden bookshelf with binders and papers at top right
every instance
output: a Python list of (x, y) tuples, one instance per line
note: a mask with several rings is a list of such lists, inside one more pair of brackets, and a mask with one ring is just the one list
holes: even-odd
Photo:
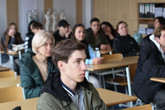
[(154, 31), (154, 18), (165, 17), (165, 3), (138, 3), (138, 32), (144, 35)]

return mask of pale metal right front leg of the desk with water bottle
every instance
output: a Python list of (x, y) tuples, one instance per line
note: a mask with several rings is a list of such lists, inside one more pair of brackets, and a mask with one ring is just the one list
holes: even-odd
[[(132, 89), (131, 89), (131, 80), (130, 80), (130, 73), (129, 67), (126, 67), (126, 74), (127, 74), (127, 83), (128, 83), (128, 94), (132, 96)], [(133, 103), (130, 102), (130, 107), (133, 107)]]

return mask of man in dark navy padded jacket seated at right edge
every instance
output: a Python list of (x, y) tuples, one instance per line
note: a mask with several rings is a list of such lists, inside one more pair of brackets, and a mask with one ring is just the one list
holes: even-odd
[[(138, 67), (132, 88), (135, 95), (144, 103), (154, 102), (157, 110), (165, 110), (165, 87), (163, 83), (151, 81), (152, 77), (165, 77), (165, 26), (156, 28), (154, 35), (144, 40), (145, 50), (140, 51)], [(142, 52), (151, 53), (144, 54)]]

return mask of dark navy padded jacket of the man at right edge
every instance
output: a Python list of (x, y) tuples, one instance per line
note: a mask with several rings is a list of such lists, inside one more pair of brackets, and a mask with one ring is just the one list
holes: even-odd
[(151, 81), (152, 77), (165, 77), (165, 62), (156, 45), (146, 37), (143, 39), (132, 89), (144, 103), (152, 102), (162, 83)]

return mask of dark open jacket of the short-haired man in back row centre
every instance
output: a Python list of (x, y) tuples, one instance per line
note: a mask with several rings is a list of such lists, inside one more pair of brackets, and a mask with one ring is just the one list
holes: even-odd
[(85, 40), (88, 42), (88, 44), (92, 47), (92, 48), (100, 48), (101, 44), (110, 44), (105, 33), (100, 29), (98, 32), (98, 39), (100, 40), (99, 44), (95, 44), (95, 39), (96, 37), (94, 36), (94, 33), (92, 31), (91, 28), (88, 28), (85, 30)]

